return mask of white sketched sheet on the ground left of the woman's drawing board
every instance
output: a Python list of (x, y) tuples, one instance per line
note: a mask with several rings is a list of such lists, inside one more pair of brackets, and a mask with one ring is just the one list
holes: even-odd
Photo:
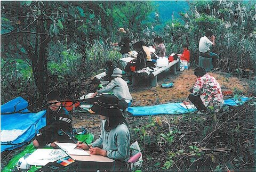
[(67, 157), (67, 154), (60, 149), (37, 149), (26, 158), (26, 161), (31, 166), (45, 166), (64, 157)]

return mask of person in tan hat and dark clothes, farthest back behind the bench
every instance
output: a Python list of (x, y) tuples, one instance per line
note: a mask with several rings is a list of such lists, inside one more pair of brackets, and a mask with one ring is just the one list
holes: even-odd
[[(122, 54), (122, 58), (127, 58), (128, 52), (130, 52), (130, 47), (129, 47), (130, 38), (126, 34), (126, 31), (124, 30), (124, 28), (119, 28), (118, 32), (121, 33), (121, 41), (119, 43), (115, 43), (111, 45), (120, 46), (121, 47), (120, 53)], [(123, 64), (123, 61), (121, 63), (123, 67), (125, 67), (127, 64), (126, 62), (124, 62)]]

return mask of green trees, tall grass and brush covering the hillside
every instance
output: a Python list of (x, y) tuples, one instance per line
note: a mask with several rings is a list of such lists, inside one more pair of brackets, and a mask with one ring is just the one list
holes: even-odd
[[(163, 38), (168, 55), (181, 53), (181, 45), (189, 44), (191, 67), (198, 64), (199, 39), (211, 29), (217, 37), (212, 51), (219, 54), (220, 72), (229, 81), (226, 88), (235, 85), (230, 78), (236, 77), (248, 87), (231, 90), (233, 96), (252, 95), (241, 107), (203, 116), (125, 114), (132, 140), (139, 139), (143, 148), (145, 163), (136, 169), (255, 170), (255, 1), (1, 1), (1, 104), (22, 96), (35, 110), (53, 89), (71, 100), (85, 94), (92, 76), (105, 70), (107, 60), (122, 68), (119, 48), (110, 44), (120, 40), (120, 27), (130, 35), (131, 50), (140, 40), (153, 45), (156, 36)], [(188, 80), (193, 85), (194, 80)], [(177, 82), (175, 87), (183, 85)], [(141, 86), (143, 90), (131, 88), (138, 101), (134, 105), (167, 102), (158, 97), (166, 96), (159, 88), (150, 89), (153, 99), (143, 93), (149, 88)], [(151, 101), (143, 102), (136, 92)], [(169, 102), (182, 101), (187, 92), (177, 96)], [(6, 163), (9, 153), (4, 156)], [(2, 160), (1, 155), (1, 168)]]

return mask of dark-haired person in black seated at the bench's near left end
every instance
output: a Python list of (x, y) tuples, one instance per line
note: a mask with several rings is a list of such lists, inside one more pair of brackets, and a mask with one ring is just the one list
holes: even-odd
[(133, 45), (135, 51), (138, 52), (137, 59), (127, 63), (124, 71), (127, 72), (129, 81), (132, 81), (131, 66), (135, 66), (135, 70), (139, 70), (147, 67), (147, 54), (142, 48), (141, 42), (137, 42)]

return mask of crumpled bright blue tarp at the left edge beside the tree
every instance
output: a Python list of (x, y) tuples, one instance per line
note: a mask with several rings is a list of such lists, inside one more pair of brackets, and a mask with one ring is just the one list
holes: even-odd
[[(22, 97), (17, 97), (3, 105), (1, 105), (1, 113), (28, 112), (28, 102)], [(1, 152), (5, 150), (13, 150), (18, 148), (34, 138), (38, 130), (46, 125), (46, 110), (37, 113), (13, 113), (1, 114)], [(4, 133), (12, 133), (19, 130), (21, 135), (14, 140), (3, 141)], [(2, 142), (3, 141), (3, 142)]]

